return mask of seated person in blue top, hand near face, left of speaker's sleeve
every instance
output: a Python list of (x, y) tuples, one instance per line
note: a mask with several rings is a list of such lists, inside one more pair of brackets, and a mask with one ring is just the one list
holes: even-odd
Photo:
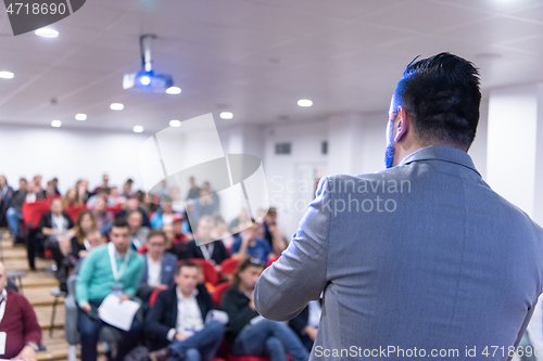
[[(253, 220), (254, 221), (254, 220)], [(232, 258), (244, 259), (248, 257), (257, 257), (264, 263), (268, 258), (274, 258), (269, 243), (263, 238), (258, 238), (257, 234), (262, 230), (262, 224), (253, 222), (252, 225), (241, 232), (241, 238), (237, 238), (232, 245)]]

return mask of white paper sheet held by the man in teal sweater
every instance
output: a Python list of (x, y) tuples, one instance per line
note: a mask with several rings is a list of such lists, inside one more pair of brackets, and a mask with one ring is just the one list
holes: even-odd
[(140, 305), (136, 301), (127, 299), (121, 304), (118, 296), (110, 294), (98, 308), (98, 315), (103, 322), (128, 331), (139, 308)]

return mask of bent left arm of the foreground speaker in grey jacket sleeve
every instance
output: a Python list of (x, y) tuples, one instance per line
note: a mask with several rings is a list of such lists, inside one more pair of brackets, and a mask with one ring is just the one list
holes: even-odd
[(329, 182), (326, 177), (320, 180), (316, 197), (292, 242), (256, 282), (254, 305), (267, 319), (286, 321), (294, 318), (311, 300), (318, 299), (326, 287), (328, 232), (333, 204)]

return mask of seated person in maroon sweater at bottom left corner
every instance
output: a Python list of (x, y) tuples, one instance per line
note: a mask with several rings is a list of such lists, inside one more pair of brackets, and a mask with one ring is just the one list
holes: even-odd
[(7, 291), (8, 276), (0, 262), (0, 359), (36, 361), (36, 351), (41, 343), (41, 328), (36, 312), (25, 296)]

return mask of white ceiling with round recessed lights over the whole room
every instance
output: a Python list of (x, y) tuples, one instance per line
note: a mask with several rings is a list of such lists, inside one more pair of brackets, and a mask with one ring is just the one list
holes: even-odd
[[(543, 80), (543, 0), (88, 0), (51, 27), (55, 39), (14, 37), (2, 10), (0, 70), (15, 77), (0, 79), (0, 125), (154, 132), (210, 112), (222, 124), (386, 112), (405, 65), (441, 51), (473, 61), (483, 89)], [(123, 90), (147, 33), (181, 94)]]

